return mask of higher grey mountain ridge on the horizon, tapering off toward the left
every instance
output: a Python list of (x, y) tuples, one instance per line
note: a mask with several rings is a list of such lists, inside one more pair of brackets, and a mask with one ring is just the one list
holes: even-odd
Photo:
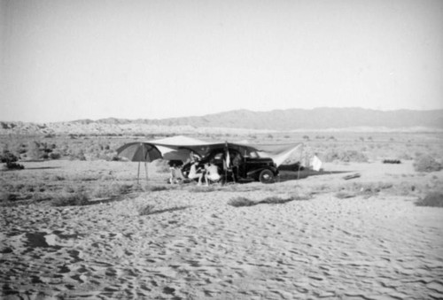
[(271, 112), (238, 110), (173, 119), (99, 119), (97, 123), (143, 123), (159, 126), (229, 127), (269, 130), (346, 127), (443, 128), (443, 110), (382, 112), (362, 108), (290, 109)]

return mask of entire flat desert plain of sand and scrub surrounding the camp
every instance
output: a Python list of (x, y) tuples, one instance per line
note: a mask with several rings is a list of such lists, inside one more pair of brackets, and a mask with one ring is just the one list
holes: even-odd
[[(443, 208), (417, 205), (443, 171), (416, 170), (441, 162), (443, 135), (245, 137), (304, 142), (323, 170), (198, 187), (167, 184), (157, 161), (137, 183), (113, 150), (143, 137), (3, 136), (25, 168), (0, 171), (0, 297), (443, 298)], [(59, 155), (23, 158), (43, 142)]]

